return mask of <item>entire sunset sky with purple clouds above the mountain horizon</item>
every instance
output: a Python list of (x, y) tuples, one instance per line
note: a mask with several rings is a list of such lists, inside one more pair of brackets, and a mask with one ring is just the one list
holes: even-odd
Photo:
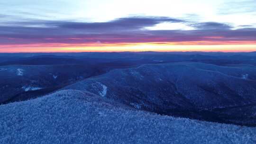
[(256, 0), (1, 0), (0, 53), (256, 51)]

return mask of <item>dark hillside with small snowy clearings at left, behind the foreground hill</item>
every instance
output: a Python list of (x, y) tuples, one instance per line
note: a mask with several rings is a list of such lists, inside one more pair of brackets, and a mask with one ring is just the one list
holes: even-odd
[(82, 64), (0, 65), (0, 103), (37, 98), (98, 73), (97, 68)]

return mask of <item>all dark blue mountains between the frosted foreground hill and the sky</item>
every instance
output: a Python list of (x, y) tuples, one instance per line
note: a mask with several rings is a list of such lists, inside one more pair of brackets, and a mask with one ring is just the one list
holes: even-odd
[(0, 103), (90, 91), (161, 115), (256, 126), (256, 53), (0, 54)]

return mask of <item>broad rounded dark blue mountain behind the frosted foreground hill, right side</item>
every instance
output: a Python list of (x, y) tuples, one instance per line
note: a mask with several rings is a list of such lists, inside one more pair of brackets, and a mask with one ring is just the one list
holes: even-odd
[(159, 114), (256, 126), (255, 73), (255, 67), (247, 66), (145, 64), (116, 69), (64, 89), (104, 92), (108, 99)]

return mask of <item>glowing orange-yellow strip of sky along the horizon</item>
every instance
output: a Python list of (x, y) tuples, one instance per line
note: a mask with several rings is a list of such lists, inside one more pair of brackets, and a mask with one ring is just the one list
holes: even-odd
[(51, 53), (51, 52), (252, 52), (256, 51), (254, 41), (223, 42), (156, 42), (156, 43), (117, 43), (117, 44), (24, 44), (0, 45), (0, 53)]

